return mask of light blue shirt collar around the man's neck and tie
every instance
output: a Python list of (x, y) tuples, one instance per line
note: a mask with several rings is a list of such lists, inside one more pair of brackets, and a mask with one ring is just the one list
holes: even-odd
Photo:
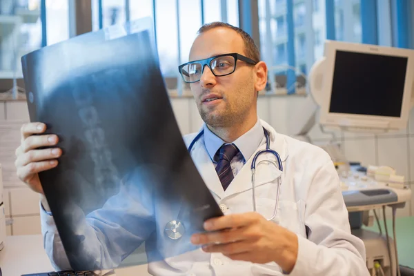
[[(264, 137), (263, 127), (259, 119), (253, 128), (250, 128), (248, 132), (244, 133), (241, 137), (236, 139), (233, 144), (239, 148), (240, 152), (244, 157), (244, 161), (250, 159), (253, 153), (257, 150), (262, 139)], [(214, 160), (214, 156), (219, 148), (226, 144), (220, 137), (215, 135), (208, 129), (207, 125), (204, 124), (204, 144), (206, 146), (210, 159)]]

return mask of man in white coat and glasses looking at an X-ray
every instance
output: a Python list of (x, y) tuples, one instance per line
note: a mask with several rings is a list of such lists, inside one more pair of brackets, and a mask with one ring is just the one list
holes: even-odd
[[(190, 63), (179, 69), (184, 81), (190, 83), (205, 122), (199, 135), (188, 135), (184, 140), (187, 146), (193, 144), (193, 161), (225, 215), (206, 221), (207, 232), (191, 237), (191, 242), (202, 245), (203, 250), (150, 263), (150, 273), (368, 275), (364, 244), (351, 235), (339, 178), (330, 157), (316, 146), (277, 133), (257, 117), (257, 92), (266, 86), (267, 68), (259, 59), (253, 39), (225, 23), (207, 24), (193, 43)], [(23, 126), (21, 146), (16, 151), (17, 175), (41, 194), (37, 172), (55, 168), (61, 155), (59, 148), (36, 150), (57, 144), (55, 135), (33, 135), (44, 130), (40, 123)], [(266, 137), (270, 148), (278, 152), (283, 170), (267, 164), (258, 169), (257, 199), (253, 204), (257, 212), (252, 212), (250, 164), (257, 151), (266, 148)], [(266, 159), (277, 161), (271, 155), (260, 160)], [(275, 189), (269, 188), (274, 186), (268, 186), (269, 182), (277, 184), (275, 179), (282, 179), (278, 200)], [(48, 210), (44, 197), (41, 203), (42, 209)], [(42, 210), (41, 219), (50, 259), (57, 268), (66, 268), (68, 263), (52, 217)], [(111, 222), (103, 221), (97, 228)], [(157, 230), (164, 229), (157, 226)], [(97, 236), (91, 228), (87, 231)], [(114, 235), (117, 242), (112, 250), (101, 239), (88, 247), (96, 251), (94, 257), (101, 265), (116, 266), (121, 255), (131, 252), (131, 248), (123, 246), (147, 237), (142, 233), (130, 237), (130, 232), (124, 233), (120, 228), (110, 237)], [(122, 243), (122, 239), (126, 242)], [(146, 242), (154, 246), (150, 240)]]

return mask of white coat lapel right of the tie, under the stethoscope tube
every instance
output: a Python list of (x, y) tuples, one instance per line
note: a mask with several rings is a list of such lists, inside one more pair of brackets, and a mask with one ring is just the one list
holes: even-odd
[[(279, 156), (282, 159), (282, 166), (285, 167), (286, 159), (288, 157), (286, 140), (283, 135), (277, 134), (277, 132), (266, 124), (266, 122), (262, 121), (262, 126), (264, 126), (264, 128), (266, 128), (269, 132), (270, 149), (279, 153)], [(230, 186), (228, 186), (226, 192), (224, 192), (224, 197), (230, 197), (231, 195), (235, 195), (237, 193), (243, 193), (253, 187), (251, 164), (257, 152), (264, 149), (266, 149), (266, 143), (263, 141), (262, 146), (259, 146), (250, 159), (246, 161), (246, 164), (244, 164), (242, 170), (239, 171)], [(276, 158), (272, 153), (265, 153), (257, 158), (256, 164), (259, 164), (262, 160), (276, 161)], [(276, 166), (263, 162), (262, 164), (259, 164), (259, 166), (256, 166), (255, 186), (262, 186), (270, 181), (274, 181), (278, 177), (281, 177), (281, 181), (283, 181), (283, 173)]]

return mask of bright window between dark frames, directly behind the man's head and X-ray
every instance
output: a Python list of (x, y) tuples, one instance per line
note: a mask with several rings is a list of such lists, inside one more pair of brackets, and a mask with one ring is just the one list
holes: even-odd
[[(126, 1), (130, 20), (155, 16), (161, 72), (168, 78), (169, 88), (179, 88), (181, 77), (177, 67), (188, 61), (190, 47), (201, 27), (201, 1), (179, 0), (177, 6), (177, 1), (155, 0), (153, 6), (153, 0), (102, 0), (103, 28), (126, 21)], [(239, 26), (238, 0), (208, 0), (204, 1), (203, 8), (204, 23), (226, 19), (233, 26)], [(92, 21), (92, 30), (99, 29), (98, 0), (92, 0)]]

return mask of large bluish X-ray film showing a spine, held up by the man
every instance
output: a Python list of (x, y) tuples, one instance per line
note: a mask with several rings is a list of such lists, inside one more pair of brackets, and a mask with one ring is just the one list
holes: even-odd
[(222, 215), (181, 137), (151, 33), (100, 30), (22, 58), (30, 120), (63, 150), (39, 178), (75, 270), (116, 268), (143, 243), (148, 262), (198, 250), (190, 236)]

